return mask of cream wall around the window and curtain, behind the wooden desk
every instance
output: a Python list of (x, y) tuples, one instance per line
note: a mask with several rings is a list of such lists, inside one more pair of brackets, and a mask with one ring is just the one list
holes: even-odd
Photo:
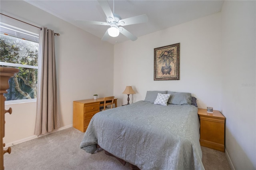
[[(1, 13), (45, 26), (55, 36), (58, 111), (62, 127), (72, 126), (73, 101), (113, 95), (113, 45), (52, 16), (24, 1), (0, 1)], [(23, 24), (1, 15), (1, 22), (39, 32), (39, 28)], [(108, 75), (108, 76), (106, 76)], [(34, 136), (36, 103), (6, 105), (12, 115), (6, 114), (4, 142), (14, 142)]]

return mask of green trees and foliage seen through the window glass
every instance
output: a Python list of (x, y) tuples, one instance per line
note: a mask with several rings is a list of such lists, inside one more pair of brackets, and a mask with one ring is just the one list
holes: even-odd
[(4, 94), (6, 100), (36, 99), (38, 43), (0, 35), (0, 61), (2, 67), (6, 63), (22, 65), (16, 66), (20, 72), (9, 81), (10, 88)]

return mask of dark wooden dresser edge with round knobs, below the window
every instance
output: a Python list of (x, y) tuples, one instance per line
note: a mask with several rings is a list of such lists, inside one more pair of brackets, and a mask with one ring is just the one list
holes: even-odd
[(0, 67), (0, 170), (4, 170), (4, 154), (8, 152), (11, 153), (11, 148), (4, 150), (5, 143), (3, 142), (4, 138), (4, 124), (5, 124), (5, 113), (12, 113), (12, 108), (5, 110), (4, 109), (4, 101), (6, 98), (4, 97), (4, 93), (7, 93), (7, 89), (9, 89), (9, 79), (13, 77), (15, 73), (18, 73), (19, 69), (10, 68), (10, 67)]

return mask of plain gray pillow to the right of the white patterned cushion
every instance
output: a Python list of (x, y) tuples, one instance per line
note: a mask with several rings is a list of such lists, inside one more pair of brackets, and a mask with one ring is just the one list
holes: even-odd
[(191, 105), (191, 93), (168, 91), (168, 94), (171, 94), (169, 104)]

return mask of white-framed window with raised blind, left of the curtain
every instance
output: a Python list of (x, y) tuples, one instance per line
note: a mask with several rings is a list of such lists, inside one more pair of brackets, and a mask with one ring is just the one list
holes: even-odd
[(20, 69), (9, 80), (6, 101), (36, 99), (38, 40), (38, 34), (0, 23), (0, 65)]

